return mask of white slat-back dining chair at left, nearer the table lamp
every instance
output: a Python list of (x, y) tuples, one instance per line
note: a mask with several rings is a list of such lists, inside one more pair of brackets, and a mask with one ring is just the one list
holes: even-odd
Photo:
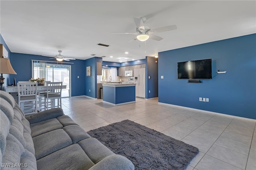
[[(37, 82), (18, 82), (18, 105), (24, 113), (37, 113)], [(26, 110), (26, 109), (31, 109)], [(28, 112), (27, 112), (28, 111)]]

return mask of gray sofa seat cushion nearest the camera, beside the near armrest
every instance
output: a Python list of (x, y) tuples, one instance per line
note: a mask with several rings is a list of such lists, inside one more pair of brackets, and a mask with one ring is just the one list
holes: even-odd
[(37, 169), (88, 170), (94, 163), (78, 144), (72, 144), (36, 161)]

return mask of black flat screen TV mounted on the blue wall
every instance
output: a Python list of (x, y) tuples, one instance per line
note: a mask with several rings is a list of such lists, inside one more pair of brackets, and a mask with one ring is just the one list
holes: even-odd
[(179, 62), (178, 79), (212, 79), (212, 59)]

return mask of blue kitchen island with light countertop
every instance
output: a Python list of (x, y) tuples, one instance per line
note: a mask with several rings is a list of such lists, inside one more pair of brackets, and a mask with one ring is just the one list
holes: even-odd
[(135, 83), (102, 83), (103, 101), (115, 105), (135, 102)]

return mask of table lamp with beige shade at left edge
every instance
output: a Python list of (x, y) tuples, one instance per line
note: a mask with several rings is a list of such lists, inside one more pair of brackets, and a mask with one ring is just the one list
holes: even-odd
[(10, 60), (8, 58), (0, 57), (0, 73), (1, 73), (0, 85), (1, 85), (1, 90), (3, 90), (3, 84), (4, 84), (3, 74), (17, 74), (12, 68)]

